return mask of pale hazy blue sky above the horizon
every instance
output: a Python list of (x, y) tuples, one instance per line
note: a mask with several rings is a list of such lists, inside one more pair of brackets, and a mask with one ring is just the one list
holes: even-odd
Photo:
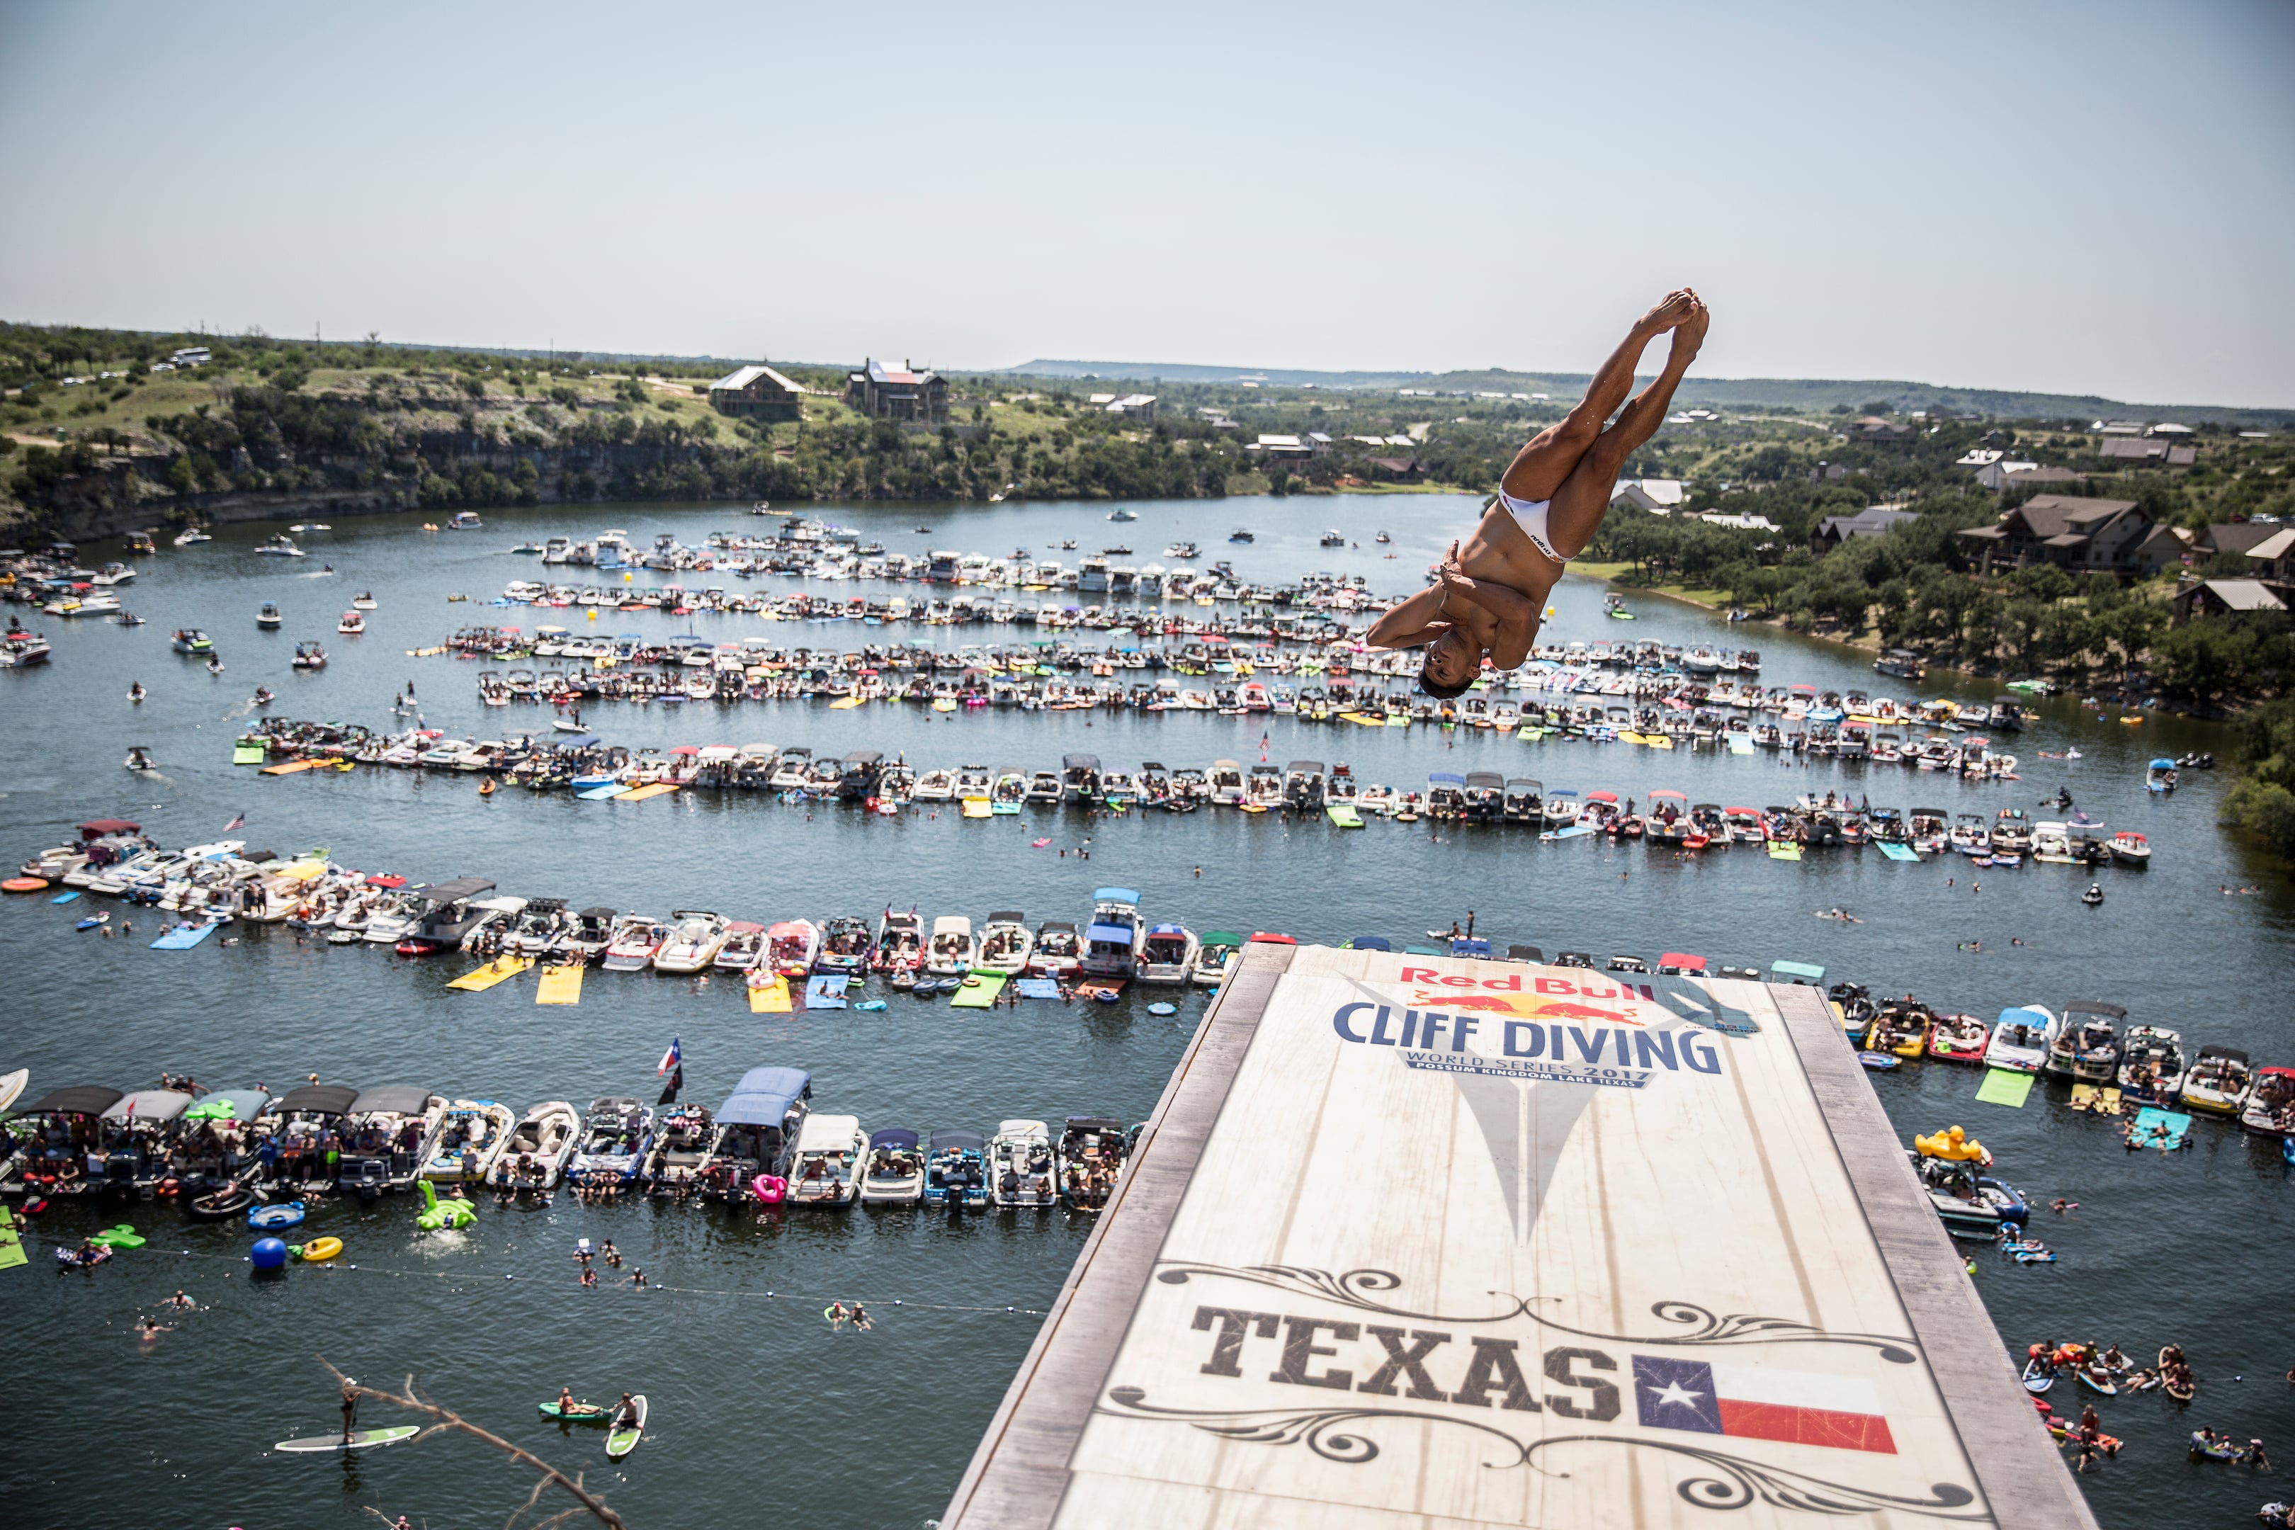
[(0, 5), (0, 317), (2295, 404), (2295, 7)]

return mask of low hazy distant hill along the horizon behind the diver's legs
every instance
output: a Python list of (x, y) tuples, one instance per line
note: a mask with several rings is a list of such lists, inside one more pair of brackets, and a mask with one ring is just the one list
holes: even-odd
[[(1577, 397), (1588, 381), (1584, 372), (1306, 372), (1292, 367), (1198, 367), (1191, 362), (1115, 362), (1115, 360), (1030, 360), (1005, 367), (1005, 376), (1044, 376), (1108, 383), (1269, 383), (1274, 388), (1432, 388), (1437, 392), (1549, 392)], [(2295, 408), (2224, 408), (2215, 404), (2127, 404), (2098, 395), (2015, 392), (2001, 388), (1939, 388), (1893, 378), (1685, 378), (1675, 392), (1680, 404), (1724, 408), (1790, 408), (1827, 413), (1861, 411), (1882, 404), (1889, 411), (1926, 408), (2001, 420), (2189, 420), (2245, 427), (2295, 427)]]

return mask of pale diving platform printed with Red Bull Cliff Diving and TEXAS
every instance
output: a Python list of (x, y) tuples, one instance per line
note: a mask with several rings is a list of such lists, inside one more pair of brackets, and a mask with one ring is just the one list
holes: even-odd
[(1246, 945), (946, 1530), (2093, 1530), (1818, 989)]

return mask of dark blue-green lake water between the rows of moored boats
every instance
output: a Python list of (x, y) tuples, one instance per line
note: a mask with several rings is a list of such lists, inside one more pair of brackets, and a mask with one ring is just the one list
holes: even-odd
[[(1409, 590), (1418, 571), (1476, 509), (1448, 495), (1343, 500), (1228, 500), (1141, 505), (1108, 525), (1106, 507), (824, 507), (831, 518), (895, 551), (1017, 546), (1074, 562), (1113, 541), (1131, 562), (1175, 539), (1232, 557), (1253, 580), (1306, 569), (1368, 573), (1377, 590)], [(1340, 523), (1359, 548), (1320, 548)], [(732, 918), (826, 918), (911, 906), (929, 920), (1024, 908), (1030, 920), (1083, 918), (1095, 885), (1143, 892), (1152, 920), (1191, 929), (1278, 929), (1338, 943), (1356, 934), (1418, 938), (1473, 908), (1478, 931), (1547, 952), (1609, 957), (1703, 952), (1721, 963), (1815, 961), (1877, 991), (1914, 991), (1946, 1009), (1992, 1016), (2006, 1005), (2107, 998), (2137, 1023), (2245, 1046), (2258, 1062), (2295, 1064), (2286, 982), (2295, 973), (2295, 895), (2261, 858), (2215, 823), (2226, 773), (2185, 773), (2171, 798), (2144, 791), (2155, 752), (2226, 750), (2222, 729), (2153, 718), (2141, 727), (2098, 720), (2070, 697), (2047, 702), (2024, 734), (1999, 741), (2022, 755), (2024, 780), (1965, 784), (1836, 762), (1781, 764), (1772, 755), (1652, 752), (1627, 746), (1522, 743), (1492, 734), (1361, 729), (1287, 716), (1214, 713), (1012, 713), (934, 716), (822, 702), (741, 707), (599, 704), (585, 720), (613, 743), (808, 743), (817, 752), (881, 748), (918, 768), (934, 764), (1058, 764), (1092, 750), (1111, 766), (1168, 766), (1214, 757), (1258, 759), (1260, 734), (1276, 764), (1345, 759), (1359, 780), (1423, 787), (1427, 771), (1496, 768), (1549, 787), (1609, 787), (1648, 798), (1675, 787), (1698, 801), (1776, 803), (1841, 787), (1882, 805), (1942, 805), (1990, 817), (2033, 807), (2068, 782), (2079, 807), (2116, 828), (2141, 828), (2155, 846), (2148, 872), (2105, 869), (2107, 901), (2077, 901), (2088, 874), (2026, 865), (1976, 872), (1958, 858), (1893, 865), (1870, 851), (1811, 853), (1776, 862), (1744, 849), (1675, 862), (1600, 840), (1540, 844), (1515, 830), (1455, 830), (1372, 821), (1340, 833), (1278, 814), (1198, 812), (1086, 819), (1076, 810), (962, 821), (943, 810), (877, 819), (831, 805), (783, 805), (748, 794), (677, 794), (640, 805), (578, 803), (565, 794), (475, 796), (468, 778), (363, 766), (351, 773), (259, 778), (230, 766), (257, 684), (280, 693), (291, 718), (390, 723), (390, 697), (415, 681), (425, 716), (452, 734), (498, 736), (542, 709), (484, 711), (477, 665), (409, 658), (468, 622), (578, 622), (581, 612), (500, 612), (491, 599), (512, 578), (537, 578), (509, 546), (551, 534), (594, 537), (606, 525), (633, 539), (769, 525), (734, 507), (542, 507), (487, 512), (487, 530), (425, 534), (420, 516), (347, 521), (303, 537), (305, 560), (255, 555), (278, 528), (227, 528), (211, 544), (165, 548), (140, 562), (126, 603), (140, 629), (41, 617), (55, 640), (46, 670), (0, 674), (0, 707), (16, 757), (0, 778), (0, 851), (16, 858), (71, 837), (92, 817), (129, 817), (168, 844), (211, 840), (246, 814), (250, 844), (278, 851), (330, 846), (335, 858), (422, 881), (484, 874), (503, 892), (576, 904), (666, 911), (707, 906)], [(934, 525), (929, 534), (918, 525)], [(1226, 541), (1235, 525), (1251, 546)], [(1386, 528), (1393, 560), (1370, 541)], [(83, 548), (85, 557), (110, 557)], [(319, 573), (333, 562), (335, 573)], [(599, 578), (565, 571), (574, 583)], [(638, 576), (656, 580), (668, 576)], [(695, 580), (686, 580), (695, 583)], [(730, 583), (730, 580), (700, 580)], [(757, 590), (787, 587), (764, 578)], [(372, 590), (381, 610), (363, 638), (337, 638), (351, 594)], [(865, 585), (833, 585), (838, 594)], [(886, 587), (877, 587), (886, 590)], [(473, 603), (448, 603), (450, 592)], [(913, 592), (913, 590), (911, 590)], [(1632, 599), (1641, 619), (1604, 622), (1602, 587), (1565, 580), (1556, 638), (1657, 638), (1753, 642), (1763, 684), (1868, 688), (1866, 656), (1774, 629), (1728, 629), (1710, 612), (1655, 596)], [(255, 608), (278, 601), (287, 626), (255, 629)], [(569, 622), (569, 624), (571, 624)], [(851, 624), (778, 626), (750, 617), (698, 617), (709, 638), (858, 647)], [(168, 651), (174, 626), (216, 635), (227, 672), (209, 677)], [(686, 631), (686, 619), (608, 612), (601, 631)], [(895, 629), (868, 638), (934, 633), (943, 642), (1028, 638), (1028, 629)], [(321, 638), (333, 663), (289, 668), (296, 638)], [(142, 707), (124, 693), (140, 679)], [(1992, 697), (1992, 684), (1932, 679), (1921, 695)], [(2114, 709), (2116, 716), (2116, 709)], [(119, 768), (129, 746), (149, 746), (163, 771)], [(2079, 762), (2043, 750), (2077, 746)], [(2038, 817), (2038, 814), (2036, 814)], [(1030, 849), (1051, 837), (1053, 846)], [(1090, 860), (1058, 856), (1090, 840)], [(1200, 872), (1200, 876), (1198, 876)], [(1981, 879), (1981, 892), (1971, 885)], [(2263, 888), (2226, 897), (2222, 885)], [(1861, 924), (1811, 918), (1845, 906)], [(413, 1083), (443, 1094), (526, 1106), (659, 1087), (654, 1064), (684, 1041), (688, 1096), (721, 1101), (744, 1069), (773, 1062), (812, 1071), (815, 1106), (851, 1110), (863, 1126), (994, 1129), (1003, 1117), (1106, 1113), (1141, 1119), (1203, 1014), (1191, 991), (1177, 1016), (1145, 1002), (966, 1014), (893, 996), (881, 1014), (750, 1014), (737, 984), (698, 991), (691, 979), (592, 973), (578, 1009), (542, 1009), (532, 979), (489, 993), (450, 993), (459, 961), (402, 961), (383, 947), (296, 943), (291, 931), (250, 931), (236, 947), (151, 952), (145, 938), (73, 934), (71, 908), (46, 899), (0, 904), (0, 952), (11, 986), (0, 1069), (30, 1067), (32, 1092), (67, 1083), (149, 1087), (161, 1069), (202, 1083), (262, 1080), (273, 1090), (326, 1080)], [(151, 920), (156, 934), (156, 918)], [(138, 920), (138, 936), (145, 936)], [(2010, 945), (2010, 938), (2024, 945)], [(1983, 940), (1983, 952), (1958, 950)], [(959, 1018), (962, 1016), (962, 1018)], [(2281, 1372), (2295, 1360), (2295, 1301), (2286, 1248), (2295, 1184), (2277, 1145), (2215, 1122), (2196, 1149), (2162, 1158), (2125, 1154), (2105, 1122), (2063, 1110), (2045, 1085), (2022, 1110), (1971, 1101), (1976, 1069), (1907, 1067), (1875, 1080), (1909, 1138), (1953, 1122), (1999, 1158), (1999, 1172), (2036, 1202), (2082, 1202), (2043, 1213), (2038, 1234), (2063, 1255), (2017, 1266), (1978, 1248), (1976, 1282), (2017, 1351), (2033, 1340), (2118, 1342), (2150, 1356), (2180, 1342), (2201, 1379), (2199, 1402), (2160, 1395), (2100, 1399), (2105, 1429), (2127, 1450), (2086, 1480), (2107, 1525), (2242, 1523), (2284, 1477), (2192, 1466), (2183, 1438), (2201, 1422), (2295, 1452), (2295, 1408)], [(946, 1505), (973, 1445), (1058, 1291), (1088, 1225), (1079, 1216), (789, 1213), (753, 1220), (649, 1204), (503, 1211), (487, 1202), (459, 1241), (415, 1236), (413, 1207), (333, 1204), (305, 1232), (344, 1239), (340, 1269), (296, 1269), (250, 1282), (236, 1225), (188, 1225), (138, 1207), (151, 1246), (94, 1275), (55, 1275), (44, 1248), (32, 1269), (0, 1273), (11, 1321), (18, 1408), (14, 1447), (0, 1452), (9, 1519), (48, 1523), (351, 1525), (367, 1505), (429, 1525), (500, 1523), (523, 1493), (523, 1473), (464, 1438), (372, 1452), (349, 1463), (278, 1457), (273, 1441), (335, 1424), (330, 1383), (314, 1356), (365, 1381), (415, 1374), (438, 1402), (590, 1473), (633, 1525), (771, 1519), (815, 1528), (927, 1523)], [(94, 1213), (60, 1211), (34, 1225), (34, 1243), (78, 1239)], [(576, 1236), (613, 1239), (656, 1289), (576, 1289)], [(356, 1269), (353, 1269), (356, 1266)], [(627, 1273), (627, 1271), (624, 1271)], [(207, 1310), (172, 1319), (149, 1351), (131, 1324), (174, 1287)], [(863, 1298), (868, 1335), (831, 1333), (822, 1307)], [(2245, 1381), (2235, 1381), (2245, 1376)], [(41, 1379), (53, 1379), (41, 1385)], [(601, 1441), (560, 1436), (535, 1402), (560, 1385), (652, 1399), (645, 1447), (622, 1466)], [(2068, 1383), (2063, 1383), (2068, 1385)], [(2061, 1388), (2059, 1388), (2061, 1390)], [(2059, 1397), (2072, 1404), (2077, 1397)], [(395, 1422), (367, 1404), (365, 1424)], [(90, 1459), (90, 1450), (99, 1457)]]

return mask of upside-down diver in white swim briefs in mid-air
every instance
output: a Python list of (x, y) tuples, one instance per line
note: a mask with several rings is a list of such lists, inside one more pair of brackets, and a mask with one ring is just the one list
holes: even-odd
[[(1370, 647), (1425, 647), (1418, 688), (1437, 700), (1473, 686), (1485, 654), (1499, 670), (1528, 658), (1547, 594), (1602, 525), (1627, 454), (1664, 422), (1707, 323), (1705, 303), (1687, 287), (1643, 314), (1595, 372), (1577, 408), (1515, 454), (1499, 479), (1499, 498), (1467, 539), (1450, 546), (1437, 583), (1370, 626)], [(1666, 330), (1673, 330), (1673, 351), (1664, 369), (1627, 404), (1641, 351)], [(1616, 424), (1602, 429), (1620, 404)]]

